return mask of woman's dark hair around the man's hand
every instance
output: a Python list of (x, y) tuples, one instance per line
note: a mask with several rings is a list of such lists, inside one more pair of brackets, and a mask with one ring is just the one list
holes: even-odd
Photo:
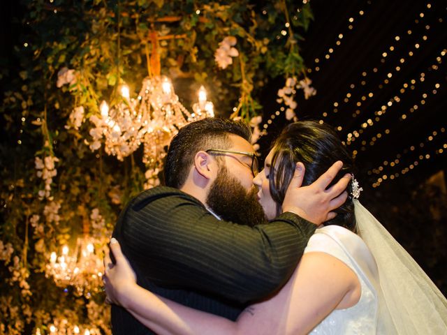
[[(269, 175), (270, 193), (279, 206), (284, 201), (297, 162), (302, 162), (306, 168), (302, 186), (312, 184), (336, 161), (342, 161), (343, 168), (330, 186), (337, 183), (346, 173), (354, 172), (353, 158), (335, 131), (330, 126), (315, 121), (289, 124), (274, 142), (273, 153)], [(337, 216), (326, 221), (324, 225), (341, 225), (356, 232), (351, 183), (346, 191), (349, 193), (348, 199), (335, 210)]]

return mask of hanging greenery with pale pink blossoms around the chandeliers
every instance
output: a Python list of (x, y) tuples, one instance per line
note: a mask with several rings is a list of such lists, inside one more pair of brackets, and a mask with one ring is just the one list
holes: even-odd
[(145, 77), (160, 74), (186, 109), (203, 85), (217, 115), (249, 121), (263, 87), (281, 76), (293, 105), (290, 84), (306, 79), (299, 43), (312, 20), (303, 2), (22, 1), (20, 69), (0, 77), (8, 87), (0, 107), (0, 334), (110, 334), (101, 273), (57, 276), (68, 256), (82, 265), (86, 241), (101, 260), (117, 214), (158, 184), (159, 167), (147, 170), (140, 150), (123, 161), (105, 154), (91, 121), (101, 101), (122, 101), (124, 83), (136, 96)]

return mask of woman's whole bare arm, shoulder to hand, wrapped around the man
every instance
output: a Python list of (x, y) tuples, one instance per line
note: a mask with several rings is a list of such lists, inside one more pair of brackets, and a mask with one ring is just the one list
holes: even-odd
[(117, 264), (105, 271), (109, 299), (161, 335), (307, 334), (337, 306), (353, 306), (360, 297), (358, 278), (343, 262), (325, 253), (307, 253), (277, 295), (247, 308), (232, 322), (140, 288), (119, 245), (110, 248)]

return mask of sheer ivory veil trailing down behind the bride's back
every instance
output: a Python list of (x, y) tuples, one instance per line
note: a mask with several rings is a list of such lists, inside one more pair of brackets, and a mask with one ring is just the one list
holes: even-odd
[(447, 334), (446, 297), (383, 225), (353, 202), (360, 237), (379, 269), (379, 334)]

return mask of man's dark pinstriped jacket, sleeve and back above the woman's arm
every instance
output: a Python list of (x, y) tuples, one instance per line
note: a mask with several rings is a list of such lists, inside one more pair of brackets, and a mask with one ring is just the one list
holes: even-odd
[(254, 228), (220, 221), (195, 198), (159, 187), (128, 205), (114, 236), (148, 281), (245, 303), (288, 280), (315, 229), (292, 213)]

